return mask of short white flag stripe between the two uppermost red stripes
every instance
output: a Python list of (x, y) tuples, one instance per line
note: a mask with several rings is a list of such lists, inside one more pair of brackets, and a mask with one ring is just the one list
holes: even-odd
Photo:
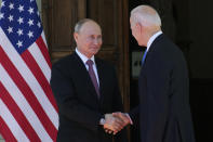
[(36, 60), (37, 64), (41, 68), (43, 75), (45, 76), (46, 80), (50, 82), (51, 79), (51, 68), (48, 65), (48, 62), (43, 57), (40, 49), (38, 48), (38, 44), (35, 42), (28, 48), (29, 52)]

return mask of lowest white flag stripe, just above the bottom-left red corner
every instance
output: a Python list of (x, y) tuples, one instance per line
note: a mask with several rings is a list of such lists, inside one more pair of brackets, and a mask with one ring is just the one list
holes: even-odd
[(18, 142), (29, 142), (29, 139), (26, 137), (25, 132), (22, 130), (11, 112), (8, 109), (6, 105), (0, 99), (0, 116), (5, 121), (6, 126), (15, 137)]

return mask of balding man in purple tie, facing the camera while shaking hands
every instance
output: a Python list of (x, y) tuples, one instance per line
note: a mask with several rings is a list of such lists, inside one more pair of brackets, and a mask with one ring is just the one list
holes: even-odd
[[(94, 57), (102, 46), (99, 25), (89, 18), (77, 23), (76, 51), (53, 65), (51, 87), (59, 109), (58, 142), (125, 142), (125, 130), (115, 137), (122, 120), (111, 113), (123, 111), (116, 70)], [(116, 132), (115, 132), (116, 133)]]

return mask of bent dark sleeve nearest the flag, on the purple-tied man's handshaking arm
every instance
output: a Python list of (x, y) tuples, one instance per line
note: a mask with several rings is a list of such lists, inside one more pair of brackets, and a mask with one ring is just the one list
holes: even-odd
[(62, 70), (62, 67), (57, 67), (57, 65), (54, 65), (52, 68), (51, 87), (57, 101), (59, 114), (81, 124), (82, 127), (97, 130), (102, 115), (79, 102), (74, 93), (74, 83), (66, 76), (67, 72)]

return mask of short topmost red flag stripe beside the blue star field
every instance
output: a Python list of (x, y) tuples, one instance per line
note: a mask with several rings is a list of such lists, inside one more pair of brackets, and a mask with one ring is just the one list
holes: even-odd
[(41, 53), (43, 54), (48, 65), (50, 66), (50, 68), (52, 68), (49, 51), (48, 51), (48, 48), (46, 48), (45, 43), (43, 42), (43, 39), (41, 36), (36, 40), (36, 43), (38, 44)]

